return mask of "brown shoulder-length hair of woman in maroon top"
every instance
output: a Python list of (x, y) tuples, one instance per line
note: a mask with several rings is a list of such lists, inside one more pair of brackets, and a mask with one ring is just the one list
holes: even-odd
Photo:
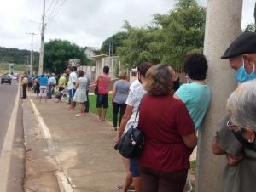
[(145, 90), (149, 95), (160, 96), (173, 92), (171, 68), (166, 64), (152, 66), (146, 74)]

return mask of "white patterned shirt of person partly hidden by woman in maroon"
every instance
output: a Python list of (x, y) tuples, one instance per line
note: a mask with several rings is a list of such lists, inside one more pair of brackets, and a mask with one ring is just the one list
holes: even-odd
[(132, 82), (130, 86), (130, 93), (128, 95), (128, 98), (126, 100), (126, 104), (133, 107), (132, 114), (130, 120), (127, 122), (125, 126), (125, 133), (128, 131), (129, 128), (131, 128), (131, 124), (134, 122), (134, 125), (137, 125), (137, 122), (139, 120), (139, 115), (137, 116), (135, 120), (135, 116), (139, 107), (139, 104), (141, 102), (141, 99), (143, 98), (143, 95), (146, 93), (146, 91), (143, 89), (143, 85), (140, 82)]

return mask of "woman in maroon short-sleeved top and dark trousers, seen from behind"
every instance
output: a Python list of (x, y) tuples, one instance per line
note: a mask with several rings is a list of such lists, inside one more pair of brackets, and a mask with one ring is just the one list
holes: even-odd
[(197, 144), (189, 111), (181, 100), (173, 98), (173, 77), (172, 68), (164, 64), (154, 65), (146, 75), (147, 94), (138, 123), (145, 143), (137, 158), (143, 192), (183, 192), (189, 156)]

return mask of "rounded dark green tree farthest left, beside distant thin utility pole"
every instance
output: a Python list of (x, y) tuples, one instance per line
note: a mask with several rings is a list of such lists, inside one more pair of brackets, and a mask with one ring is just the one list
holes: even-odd
[(81, 59), (81, 64), (89, 62), (84, 48), (72, 42), (55, 39), (44, 44), (44, 71), (61, 74), (67, 68), (69, 59)]

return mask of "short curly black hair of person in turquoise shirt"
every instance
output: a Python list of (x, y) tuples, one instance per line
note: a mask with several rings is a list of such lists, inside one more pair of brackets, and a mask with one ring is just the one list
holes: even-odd
[(205, 80), (207, 77), (207, 59), (204, 54), (189, 54), (183, 64), (184, 72), (192, 80)]

